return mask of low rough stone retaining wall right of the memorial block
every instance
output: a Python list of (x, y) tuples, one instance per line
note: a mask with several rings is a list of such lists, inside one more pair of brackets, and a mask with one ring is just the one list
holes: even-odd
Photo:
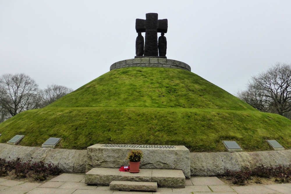
[(239, 171), (257, 166), (287, 167), (291, 163), (291, 150), (258, 152), (192, 152), (191, 176), (218, 176), (226, 170)]

